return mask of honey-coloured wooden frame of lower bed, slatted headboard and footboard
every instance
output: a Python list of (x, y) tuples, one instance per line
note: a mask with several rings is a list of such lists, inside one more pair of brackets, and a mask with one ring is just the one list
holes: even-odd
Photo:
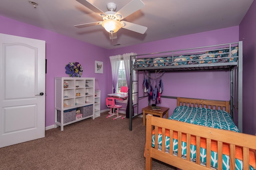
[[(177, 98), (177, 106), (191, 107), (226, 107), (229, 111), (229, 102), (214, 100), (198, 100), (191, 98)], [(152, 147), (152, 131), (158, 132), (162, 128), (162, 143), (165, 143), (165, 131), (170, 130), (170, 141), (173, 138), (173, 131), (178, 132), (178, 156), (173, 155), (173, 143), (170, 142), (170, 153), (165, 152), (165, 147), (158, 150), (158, 135), (155, 135), (155, 147)], [(190, 137), (196, 136), (196, 162), (190, 161), (190, 156), (186, 159), (181, 155), (182, 134), (187, 138), (187, 155), (190, 155)], [(200, 164), (200, 138), (206, 139), (206, 166)], [(240, 146), (243, 150), (243, 169), (249, 170), (249, 149), (256, 150), (256, 136), (233, 131), (214, 129), (200, 125), (193, 125), (176, 120), (154, 117), (148, 114), (146, 117), (146, 170), (152, 169), (152, 158), (170, 164), (182, 170), (205, 170), (211, 169), (211, 140), (218, 142), (218, 162), (222, 162), (222, 143), (230, 144), (230, 170), (235, 169), (235, 147)], [(222, 163), (218, 163), (218, 169), (222, 170)]]

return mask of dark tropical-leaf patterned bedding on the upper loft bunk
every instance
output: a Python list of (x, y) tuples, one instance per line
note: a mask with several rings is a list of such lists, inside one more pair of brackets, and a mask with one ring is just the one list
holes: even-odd
[[(231, 56), (229, 55), (231, 54)], [(206, 51), (202, 54), (178, 55), (174, 57), (138, 58), (133, 65), (134, 68), (152, 66), (178, 66), (188, 64), (211, 64), (236, 62), (238, 57), (238, 46), (220, 50)]]

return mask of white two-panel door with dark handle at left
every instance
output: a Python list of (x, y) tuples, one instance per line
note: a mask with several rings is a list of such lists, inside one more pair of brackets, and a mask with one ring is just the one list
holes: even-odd
[(45, 41), (0, 33), (0, 70), (0, 147), (44, 137)]

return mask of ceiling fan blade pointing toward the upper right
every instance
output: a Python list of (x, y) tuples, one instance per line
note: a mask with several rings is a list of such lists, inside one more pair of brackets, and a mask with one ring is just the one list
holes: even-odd
[(126, 6), (121, 8), (118, 12), (116, 12), (115, 16), (122, 16), (120, 20), (126, 18), (130, 14), (140, 10), (145, 4), (141, 0), (132, 0)]

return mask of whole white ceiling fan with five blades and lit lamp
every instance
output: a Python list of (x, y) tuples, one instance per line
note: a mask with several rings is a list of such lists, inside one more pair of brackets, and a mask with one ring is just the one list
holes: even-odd
[(76, 0), (80, 2), (82, 5), (86, 6), (99, 16), (103, 18), (103, 21), (97, 21), (97, 22), (91, 22), (91, 23), (83, 23), (79, 25), (74, 25), (77, 28), (84, 28), (84, 27), (90, 27), (94, 25), (102, 25), (110, 33), (110, 39), (115, 39), (116, 34), (113, 35), (113, 33), (116, 33), (120, 28), (125, 28), (131, 31), (135, 31), (137, 33), (144, 34), (147, 27), (144, 27), (142, 25), (137, 25), (135, 23), (130, 23), (127, 21), (121, 21), (130, 14), (140, 10), (145, 4), (141, 0), (132, 0), (129, 2), (126, 6), (121, 8), (118, 12), (115, 12), (116, 10), (116, 4), (115, 3), (108, 3), (107, 12), (102, 12), (100, 9), (98, 9), (96, 6), (88, 2), (87, 0)]

